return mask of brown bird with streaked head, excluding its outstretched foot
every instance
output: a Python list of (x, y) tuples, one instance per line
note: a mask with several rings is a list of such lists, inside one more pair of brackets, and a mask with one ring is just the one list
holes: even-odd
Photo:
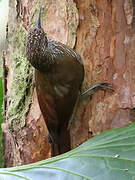
[(84, 79), (82, 59), (70, 47), (48, 40), (40, 24), (28, 32), (26, 55), (35, 67), (39, 105), (53, 144), (53, 155), (70, 150), (67, 130)]

